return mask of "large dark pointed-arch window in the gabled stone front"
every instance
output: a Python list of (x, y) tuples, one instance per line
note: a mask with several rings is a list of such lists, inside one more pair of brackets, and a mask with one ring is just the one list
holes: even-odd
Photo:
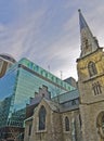
[(47, 111), (42, 105), (39, 111), (39, 130), (46, 129), (46, 115), (47, 115)]

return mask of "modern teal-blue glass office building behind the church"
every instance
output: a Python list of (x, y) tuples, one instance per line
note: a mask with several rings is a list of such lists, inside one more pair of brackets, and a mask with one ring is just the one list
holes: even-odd
[(15, 63), (0, 79), (0, 127), (22, 127), (26, 104), (42, 86), (48, 87), (51, 98), (75, 89), (27, 59)]

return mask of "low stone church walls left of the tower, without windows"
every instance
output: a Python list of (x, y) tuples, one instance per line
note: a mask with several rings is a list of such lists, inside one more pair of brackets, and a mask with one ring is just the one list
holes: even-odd
[[(47, 111), (46, 129), (39, 130), (38, 115), (42, 105)], [(40, 104), (35, 108), (30, 137), (28, 137), (28, 125), (30, 123), (28, 121), (26, 124), (24, 141), (81, 141), (79, 110), (60, 113), (60, 111), (54, 111), (54, 106), (55, 105), (50, 105), (43, 100), (40, 102)], [(66, 116), (69, 119), (69, 131), (65, 131)]]

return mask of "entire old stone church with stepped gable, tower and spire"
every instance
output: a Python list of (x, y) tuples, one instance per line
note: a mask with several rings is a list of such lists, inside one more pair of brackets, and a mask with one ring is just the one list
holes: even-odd
[(104, 141), (104, 52), (80, 10), (79, 25), (78, 86), (51, 100), (46, 86), (39, 91), (26, 108), (24, 141)]

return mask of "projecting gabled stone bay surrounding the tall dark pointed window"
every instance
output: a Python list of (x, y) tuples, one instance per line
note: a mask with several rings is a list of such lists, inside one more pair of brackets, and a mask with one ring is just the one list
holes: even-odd
[[(43, 105), (47, 110), (46, 130), (38, 130), (39, 125), (39, 110)], [(42, 101), (35, 111), (32, 131), (30, 141), (63, 141), (61, 115), (53, 112), (50, 106)]]

